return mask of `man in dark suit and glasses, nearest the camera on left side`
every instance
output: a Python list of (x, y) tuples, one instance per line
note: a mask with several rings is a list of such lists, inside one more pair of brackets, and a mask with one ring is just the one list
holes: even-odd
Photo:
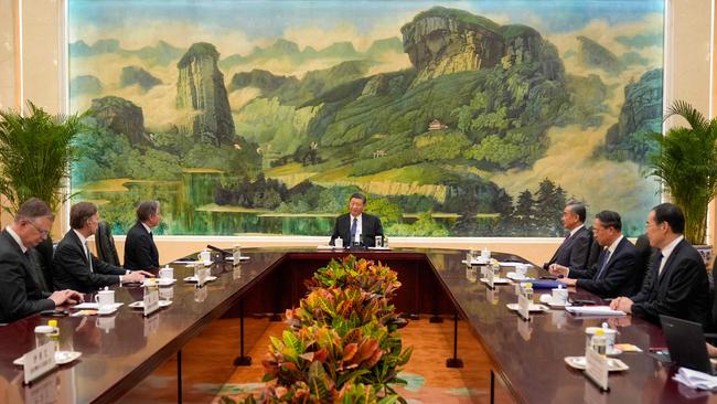
[(14, 222), (0, 233), (0, 322), (10, 322), (57, 306), (83, 301), (74, 290), (43, 293), (34, 280), (28, 253), (47, 238), (55, 216), (36, 198), (23, 203)]

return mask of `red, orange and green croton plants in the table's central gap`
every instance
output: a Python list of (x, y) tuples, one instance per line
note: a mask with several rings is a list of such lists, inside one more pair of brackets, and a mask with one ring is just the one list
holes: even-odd
[(403, 348), (406, 322), (390, 305), (396, 273), (350, 255), (304, 284), (308, 295), (287, 310), (288, 327), (261, 362), (270, 383), (244, 403), (405, 403), (394, 385), (405, 384), (397, 374), (413, 349)]

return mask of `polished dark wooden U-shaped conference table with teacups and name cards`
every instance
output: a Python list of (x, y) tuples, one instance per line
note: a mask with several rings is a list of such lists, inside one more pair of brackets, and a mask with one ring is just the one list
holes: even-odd
[[(488, 352), (493, 372), (516, 402), (717, 402), (709, 393), (672, 381), (674, 369), (646, 353), (651, 347), (664, 347), (662, 331), (630, 317), (611, 320), (611, 326), (619, 330), (618, 342), (633, 343), (644, 352), (621, 354), (619, 359), (630, 369), (611, 373), (610, 391), (601, 393), (580, 371), (569, 368), (564, 357), (582, 355), (585, 328), (598, 326), (602, 320), (576, 318), (561, 309), (537, 313), (529, 322), (520, 319), (505, 306), (517, 300), (514, 286), (496, 286), (492, 290), (480, 281), (470, 281), (461, 263), (464, 251), (259, 248), (244, 249), (243, 254), (249, 261), (240, 266), (213, 265), (212, 274), (218, 278), (201, 289), (182, 280), (193, 274), (191, 268), (171, 264), (178, 283), (161, 288), (160, 293), (171, 294), (173, 302), (147, 318), (127, 307), (141, 300), (140, 287), (117, 288), (116, 299), (125, 306), (114, 316), (92, 321), (87, 317), (58, 318), (61, 348), (81, 351), (83, 355), (30, 386), (22, 385), (22, 368), (12, 361), (34, 348), (33, 329), (50, 317), (33, 316), (0, 327), (0, 402), (107, 403), (126, 401), (129, 395), (137, 397), (133, 389), (170, 358), (178, 358), (178, 374), (182, 374), (183, 348), (212, 321), (221, 317), (240, 321), (257, 313), (282, 313), (303, 297), (303, 279), (330, 258), (347, 254), (381, 261), (398, 272), (403, 286), (394, 302), (399, 311), (420, 313), (421, 319), (440, 316), (449, 326), (453, 318), (465, 321)], [(503, 262), (525, 262), (510, 254), (493, 256)], [(502, 274), (509, 270), (512, 268), (504, 267)], [(533, 266), (528, 275), (539, 276), (541, 272)], [(539, 293), (536, 291), (536, 300)], [(571, 297), (596, 299), (580, 290), (571, 291)], [(236, 341), (238, 357), (240, 336), (236, 336)], [(247, 349), (253, 341), (242, 342)], [(458, 341), (458, 357), (472, 349), (470, 341)], [(211, 354), (210, 347), (203, 354)], [(218, 360), (231, 368), (235, 358)], [(178, 402), (189, 387), (182, 385), (183, 379), (172, 379), (176, 383)]]

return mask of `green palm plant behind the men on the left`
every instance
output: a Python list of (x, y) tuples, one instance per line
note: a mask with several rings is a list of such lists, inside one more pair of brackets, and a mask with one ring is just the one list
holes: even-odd
[(53, 211), (69, 198), (65, 180), (74, 157), (73, 139), (83, 130), (83, 116), (52, 116), (28, 102), (28, 114), (0, 111), (0, 194), (14, 214), (30, 198)]

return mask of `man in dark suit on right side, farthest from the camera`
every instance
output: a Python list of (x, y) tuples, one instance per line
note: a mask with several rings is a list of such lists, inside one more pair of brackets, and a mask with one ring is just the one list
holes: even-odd
[(585, 269), (590, 252), (590, 232), (585, 227), (587, 210), (580, 202), (570, 201), (563, 210), (563, 226), (570, 233), (543, 267), (561, 265), (570, 269)]

